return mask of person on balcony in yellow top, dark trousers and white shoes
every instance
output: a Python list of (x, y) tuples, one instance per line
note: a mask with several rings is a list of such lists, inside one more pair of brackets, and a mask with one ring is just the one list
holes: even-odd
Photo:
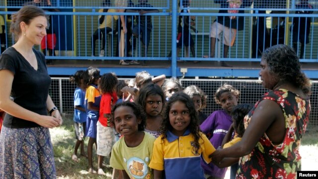
[[(102, 6), (107, 7), (110, 6), (110, 0), (104, 0), (102, 3)], [(108, 8), (101, 8), (98, 10), (98, 12), (116, 12), (115, 9), (108, 9)], [(100, 57), (105, 56), (105, 46), (106, 46), (106, 35), (111, 32), (113, 29), (113, 21), (118, 19), (117, 15), (99, 15), (98, 16), (98, 23), (99, 26), (95, 30), (94, 34), (91, 38), (91, 46), (92, 46), (92, 56), (95, 56), (95, 47), (96, 47), (96, 40), (102, 40), (101, 41), (101, 49), (99, 52)], [(111, 45), (111, 44), (108, 44)]]

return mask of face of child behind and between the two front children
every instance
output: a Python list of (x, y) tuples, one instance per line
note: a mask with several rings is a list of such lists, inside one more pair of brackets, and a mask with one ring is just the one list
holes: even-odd
[(151, 116), (158, 116), (162, 110), (162, 99), (159, 94), (149, 95), (146, 98), (146, 113)]

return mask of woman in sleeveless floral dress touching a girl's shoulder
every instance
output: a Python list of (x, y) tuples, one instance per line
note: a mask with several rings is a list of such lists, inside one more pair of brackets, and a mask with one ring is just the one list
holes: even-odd
[(241, 141), (211, 157), (215, 164), (240, 157), (237, 177), (295, 178), (301, 170), (299, 147), (309, 122), (311, 84), (297, 54), (286, 45), (267, 48), (260, 66), (262, 85), (271, 91), (244, 117)]

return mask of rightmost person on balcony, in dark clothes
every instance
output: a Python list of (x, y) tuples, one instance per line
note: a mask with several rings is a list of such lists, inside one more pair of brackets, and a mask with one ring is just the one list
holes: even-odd
[[(313, 7), (308, 3), (308, 0), (301, 0), (300, 3), (296, 4), (296, 8), (300, 9), (295, 12), (296, 14), (313, 13), (313, 11), (310, 10)], [(290, 31), (293, 33), (293, 47), (295, 52), (298, 54), (298, 42), (301, 43), (299, 58), (303, 59), (305, 54), (305, 44), (309, 43), (309, 33), (312, 18), (294, 17), (292, 22), (293, 25), (290, 27)]]

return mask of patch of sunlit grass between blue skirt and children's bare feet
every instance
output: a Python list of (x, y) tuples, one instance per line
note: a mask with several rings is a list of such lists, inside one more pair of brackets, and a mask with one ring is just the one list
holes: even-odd
[[(63, 179), (105, 179), (104, 176), (88, 174), (88, 160), (84, 157), (79, 157), (80, 150), (78, 150), (79, 162), (77, 163), (72, 160), (76, 142), (73, 116), (66, 116), (63, 119), (61, 127), (50, 129), (57, 177)], [(86, 138), (84, 147), (86, 154), (87, 142), (88, 139)], [(104, 164), (106, 166), (109, 165), (109, 158), (104, 160)], [(97, 155), (95, 150), (93, 150), (93, 167), (97, 170)], [(107, 178), (110, 179), (112, 169), (104, 167), (103, 170), (107, 172)]]

